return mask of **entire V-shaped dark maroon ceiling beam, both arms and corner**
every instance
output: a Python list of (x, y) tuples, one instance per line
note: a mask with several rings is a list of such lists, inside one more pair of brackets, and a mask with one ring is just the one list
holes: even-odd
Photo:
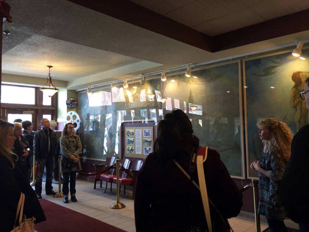
[(129, 0), (67, 0), (188, 45), (218, 52), (309, 30), (309, 10), (210, 37)]

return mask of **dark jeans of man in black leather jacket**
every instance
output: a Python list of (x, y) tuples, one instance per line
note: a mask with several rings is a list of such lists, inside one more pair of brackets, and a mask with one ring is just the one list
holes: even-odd
[(39, 164), (39, 173), (36, 174), (36, 193), (42, 193), (42, 176), (44, 172), (44, 167), (46, 167), (46, 183), (45, 192), (49, 192), (53, 189), (53, 170), (55, 164), (55, 157), (53, 155), (48, 155), (46, 158), (40, 158), (41, 163)]

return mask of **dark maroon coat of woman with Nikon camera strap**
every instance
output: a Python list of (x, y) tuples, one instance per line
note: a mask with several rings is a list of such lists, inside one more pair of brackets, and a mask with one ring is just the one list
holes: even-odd
[[(191, 153), (199, 140), (193, 135), (183, 135), (182, 140), (183, 152), (175, 159), (189, 173)], [(194, 224), (206, 221), (200, 191), (173, 162), (168, 165), (163, 171), (160, 161), (151, 153), (138, 173), (134, 201), (136, 232), (186, 231), (192, 225), (192, 218)], [(208, 197), (222, 216), (237, 216), (243, 205), (242, 194), (215, 150), (208, 150), (204, 172)], [(198, 183), (197, 171), (193, 179)], [(224, 227), (221, 220), (217, 223), (221, 224), (218, 227)]]

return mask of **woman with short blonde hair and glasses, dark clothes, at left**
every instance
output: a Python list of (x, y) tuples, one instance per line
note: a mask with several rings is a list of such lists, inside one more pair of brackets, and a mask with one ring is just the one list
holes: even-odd
[(33, 152), (32, 149), (30, 149), (29, 140), (26, 137), (23, 137), (22, 133), (22, 124), (19, 122), (14, 122), (14, 135), (16, 140), (14, 141), (13, 151), (18, 156), (16, 166), (19, 167), (28, 183), (30, 183), (29, 170), (31, 170), (31, 166), (28, 162), (28, 157), (31, 158)]

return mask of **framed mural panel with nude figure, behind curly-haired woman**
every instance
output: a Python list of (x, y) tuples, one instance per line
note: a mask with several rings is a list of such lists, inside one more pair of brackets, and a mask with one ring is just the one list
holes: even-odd
[[(263, 144), (256, 123), (264, 118), (285, 122), (295, 134), (308, 124), (308, 110), (299, 96), (309, 76), (309, 60), (292, 50), (243, 60), (244, 105), (247, 149), (247, 177), (258, 178), (250, 168), (262, 156)], [(303, 49), (302, 54), (308, 54)], [(306, 55), (308, 57), (308, 55)]]

